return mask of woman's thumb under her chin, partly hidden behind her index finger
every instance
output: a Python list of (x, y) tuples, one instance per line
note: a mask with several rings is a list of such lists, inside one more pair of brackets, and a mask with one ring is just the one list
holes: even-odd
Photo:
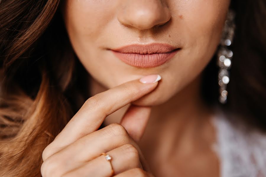
[(121, 119), (120, 124), (134, 141), (139, 141), (144, 134), (150, 112), (150, 106), (135, 106), (131, 104)]

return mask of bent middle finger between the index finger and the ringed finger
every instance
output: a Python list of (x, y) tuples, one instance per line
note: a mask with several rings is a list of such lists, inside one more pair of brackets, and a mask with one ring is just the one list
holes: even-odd
[[(78, 168), (85, 162), (97, 158), (101, 153), (111, 151), (125, 144), (132, 144), (137, 150), (140, 162), (144, 161), (143, 154), (137, 143), (128, 135), (120, 124), (110, 124), (98, 131), (86, 135), (47, 158), (41, 171), (46, 173), (64, 174)], [(71, 160), (70, 160), (71, 159)], [(146, 170), (146, 168), (144, 168)], [(49, 175), (48, 175), (49, 176)]]

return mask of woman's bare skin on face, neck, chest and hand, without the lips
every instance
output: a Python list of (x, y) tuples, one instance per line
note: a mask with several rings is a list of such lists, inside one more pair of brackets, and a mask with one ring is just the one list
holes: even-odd
[[(117, 176), (218, 176), (219, 160), (211, 149), (213, 112), (199, 90), (229, 4), (66, 0), (61, 6), (66, 29), (91, 76), (94, 96), (43, 151), (42, 175), (109, 176), (110, 164), (99, 156), (106, 152)], [(154, 68), (127, 65), (108, 50), (152, 42), (181, 50)], [(150, 74), (162, 79), (138, 81)], [(102, 122), (106, 127), (97, 130)]]

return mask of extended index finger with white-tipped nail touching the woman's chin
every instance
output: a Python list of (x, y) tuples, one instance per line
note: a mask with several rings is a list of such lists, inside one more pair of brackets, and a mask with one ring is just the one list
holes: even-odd
[[(145, 80), (146, 83), (140, 82)], [(44, 149), (43, 161), (61, 148), (96, 131), (106, 116), (154, 90), (158, 80), (159, 75), (149, 75), (142, 80), (123, 83), (87, 99), (55, 140)]]

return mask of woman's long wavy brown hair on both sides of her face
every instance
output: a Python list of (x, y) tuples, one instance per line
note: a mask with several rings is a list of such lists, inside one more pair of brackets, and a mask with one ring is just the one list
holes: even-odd
[[(89, 97), (89, 74), (59, 6), (59, 0), (0, 0), (0, 176), (41, 176), (42, 151)], [(236, 32), (225, 109), (265, 131), (266, 2), (232, 0), (231, 8)], [(203, 79), (209, 102), (218, 99), (214, 61)]]

